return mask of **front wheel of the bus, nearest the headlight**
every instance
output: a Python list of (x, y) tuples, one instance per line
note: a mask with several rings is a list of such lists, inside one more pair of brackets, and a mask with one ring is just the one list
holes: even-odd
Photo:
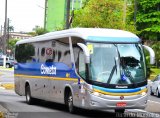
[(73, 105), (73, 93), (70, 87), (66, 87), (64, 91), (64, 102), (70, 113), (75, 113), (76, 108)]

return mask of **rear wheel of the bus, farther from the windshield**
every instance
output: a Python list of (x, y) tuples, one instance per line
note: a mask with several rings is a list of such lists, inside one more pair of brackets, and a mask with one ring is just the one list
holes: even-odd
[(29, 85), (26, 85), (26, 87), (25, 87), (25, 96), (26, 96), (27, 104), (29, 104), (29, 105), (33, 104), (34, 98), (31, 97), (31, 90), (30, 90)]

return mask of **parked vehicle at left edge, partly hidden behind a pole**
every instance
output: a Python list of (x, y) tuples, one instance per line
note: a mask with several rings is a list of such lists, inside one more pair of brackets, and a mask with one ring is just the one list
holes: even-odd
[[(3, 66), (4, 58), (0, 57), (0, 66)], [(14, 59), (6, 57), (6, 68), (12, 68), (14, 66)]]

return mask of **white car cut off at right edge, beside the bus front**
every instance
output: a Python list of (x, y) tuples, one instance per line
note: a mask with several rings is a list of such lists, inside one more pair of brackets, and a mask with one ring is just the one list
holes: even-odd
[(155, 77), (150, 86), (150, 94), (160, 97), (160, 74)]

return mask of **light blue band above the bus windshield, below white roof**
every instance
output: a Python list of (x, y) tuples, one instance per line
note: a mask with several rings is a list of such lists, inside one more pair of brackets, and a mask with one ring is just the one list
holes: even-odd
[[(116, 35), (116, 34), (115, 34)], [(100, 41), (100, 42), (122, 42), (122, 43), (137, 43), (141, 40), (136, 37), (102, 37), (102, 36), (88, 36), (88, 40), (90, 41)]]

